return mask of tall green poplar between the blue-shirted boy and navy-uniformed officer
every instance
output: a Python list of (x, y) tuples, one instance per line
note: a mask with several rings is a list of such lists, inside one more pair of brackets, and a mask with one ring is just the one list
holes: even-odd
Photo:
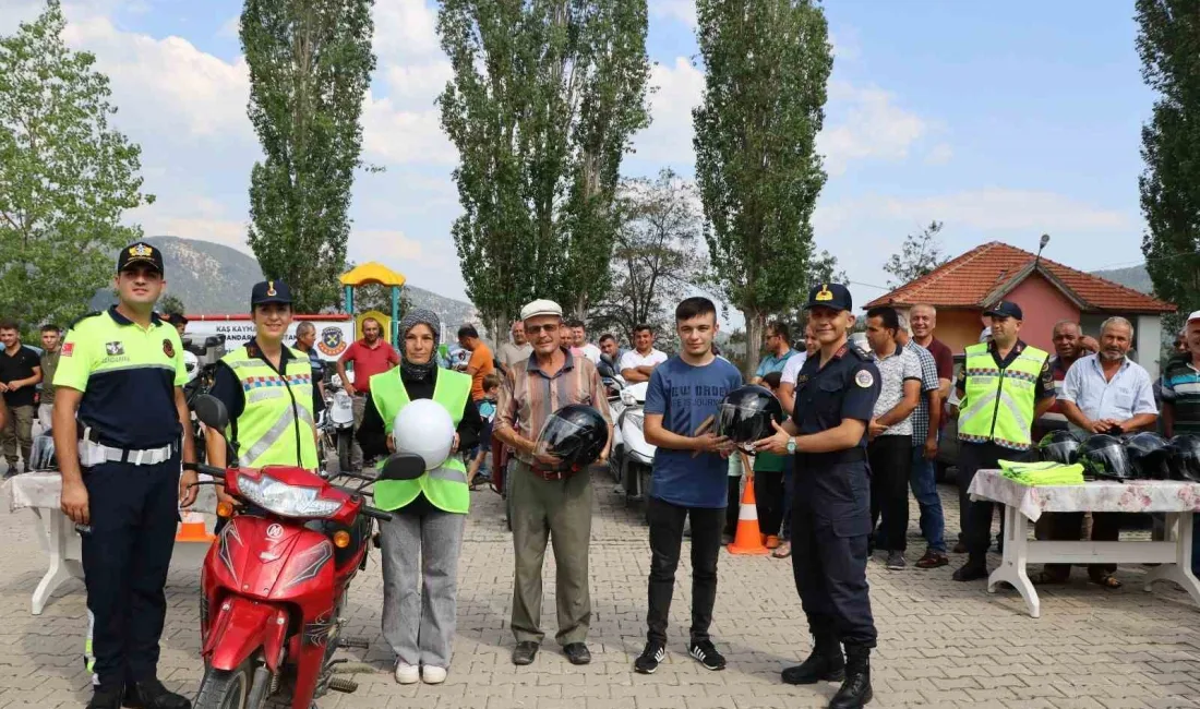
[[(694, 109), (696, 176), (713, 277), (761, 342), (770, 313), (796, 307), (794, 264), (812, 248), (826, 174), (816, 152), (833, 68), (824, 13), (809, 0), (698, 0), (707, 74)], [(751, 347), (746, 366), (758, 363)]]

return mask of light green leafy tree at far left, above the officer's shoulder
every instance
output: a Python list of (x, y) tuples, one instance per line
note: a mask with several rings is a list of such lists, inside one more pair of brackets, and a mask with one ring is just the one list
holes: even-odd
[(108, 78), (62, 41), (56, 1), (0, 37), (0, 312), (70, 323), (110, 284), (142, 193), (140, 149), (108, 125)]

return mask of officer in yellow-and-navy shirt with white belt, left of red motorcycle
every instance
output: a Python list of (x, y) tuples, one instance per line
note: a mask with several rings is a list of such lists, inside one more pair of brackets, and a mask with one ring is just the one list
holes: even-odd
[(121, 250), (120, 302), (72, 325), (54, 375), (61, 505), (83, 534), (89, 709), (191, 707), (156, 677), (179, 506), (197, 481), (184, 347), (154, 313), (162, 266), (149, 244)]

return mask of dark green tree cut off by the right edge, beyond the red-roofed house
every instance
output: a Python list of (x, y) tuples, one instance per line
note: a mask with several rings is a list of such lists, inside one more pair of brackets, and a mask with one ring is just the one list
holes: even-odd
[(1200, 0), (1138, 0), (1142, 78), (1158, 91), (1141, 130), (1141, 250), (1159, 298), (1200, 307)]

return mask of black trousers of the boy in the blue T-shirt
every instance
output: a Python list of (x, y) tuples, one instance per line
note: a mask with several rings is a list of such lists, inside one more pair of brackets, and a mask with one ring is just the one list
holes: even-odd
[(716, 558), (721, 551), (725, 507), (680, 507), (653, 497), (647, 505), (650, 582), (649, 609), (646, 612), (649, 630), (646, 637), (664, 645), (667, 642), (667, 617), (671, 614), (674, 572), (683, 548), (683, 523), (691, 517), (691, 642), (707, 641), (716, 603)]

